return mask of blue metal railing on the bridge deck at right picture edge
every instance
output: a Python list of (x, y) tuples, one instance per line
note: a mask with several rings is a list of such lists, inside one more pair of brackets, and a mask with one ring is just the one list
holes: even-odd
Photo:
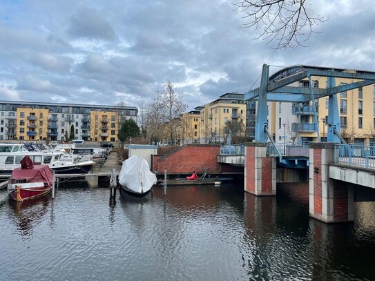
[(375, 168), (375, 144), (335, 144), (334, 163)]

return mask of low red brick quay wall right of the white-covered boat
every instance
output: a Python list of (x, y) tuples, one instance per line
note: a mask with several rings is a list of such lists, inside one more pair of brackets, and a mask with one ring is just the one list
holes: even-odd
[(209, 172), (220, 173), (221, 165), (218, 163), (220, 146), (217, 144), (186, 144), (175, 151), (162, 157), (154, 157), (154, 171), (164, 173), (202, 173), (209, 167)]

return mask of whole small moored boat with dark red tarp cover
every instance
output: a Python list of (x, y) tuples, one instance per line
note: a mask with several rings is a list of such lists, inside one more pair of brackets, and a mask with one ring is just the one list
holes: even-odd
[(13, 200), (23, 201), (49, 193), (53, 174), (49, 166), (34, 165), (27, 155), (21, 159), (21, 168), (12, 171), (8, 193)]

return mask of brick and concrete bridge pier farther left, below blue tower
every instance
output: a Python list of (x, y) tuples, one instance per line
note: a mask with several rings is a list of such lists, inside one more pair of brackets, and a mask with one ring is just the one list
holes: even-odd
[(244, 144), (244, 191), (257, 196), (276, 195), (276, 158), (267, 157), (267, 142)]

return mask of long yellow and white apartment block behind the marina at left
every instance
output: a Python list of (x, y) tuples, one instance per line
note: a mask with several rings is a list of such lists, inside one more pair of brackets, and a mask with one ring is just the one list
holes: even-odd
[(137, 113), (133, 106), (0, 101), (0, 139), (63, 141), (73, 128), (75, 139), (114, 142), (119, 122), (137, 122)]

